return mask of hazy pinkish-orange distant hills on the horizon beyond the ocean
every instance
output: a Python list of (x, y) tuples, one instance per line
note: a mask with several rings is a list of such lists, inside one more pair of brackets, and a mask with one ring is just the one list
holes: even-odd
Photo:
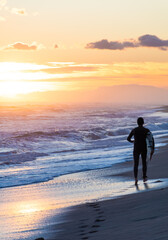
[(18, 101), (49, 103), (168, 104), (168, 89), (143, 85), (117, 85), (96, 90), (34, 92), (19, 95)]

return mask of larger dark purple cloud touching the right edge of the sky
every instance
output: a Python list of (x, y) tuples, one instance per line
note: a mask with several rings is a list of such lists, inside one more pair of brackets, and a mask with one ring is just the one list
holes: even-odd
[(162, 40), (155, 35), (143, 35), (138, 38), (139, 43), (143, 47), (157, 47), (161, 50), (167, 50), (168, 40)]

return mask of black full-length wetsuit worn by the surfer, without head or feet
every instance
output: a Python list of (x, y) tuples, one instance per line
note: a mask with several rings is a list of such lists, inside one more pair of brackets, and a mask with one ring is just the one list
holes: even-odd
[[(139, 165), (139, 156), (141, 155), (142, 158), (142, 166), (143, 166), (143, 178), (145, 179), (146, 172), (147, 172), (147, 165), (146, 165), (146, 157), (147, 157), (147, 146), (146, 146), (146, 136), (149, 132), (149, 129), (138, 126), (134, 128), (127, 140), (129, 142), (134, 142), (134, 177), (137, 178), (138, 176), (138, 165)], [(134, 136), (134, 141), (131, 140), (131, 138)]]

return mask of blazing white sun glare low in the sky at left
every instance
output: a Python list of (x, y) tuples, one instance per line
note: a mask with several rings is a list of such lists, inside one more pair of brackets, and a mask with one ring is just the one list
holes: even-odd
[(0, 62), (0, 96), (14, 98), (18, 94), (61, 89), (61, 83), (50, 81), (53, 76), (41, 71), (47, 68), (35, 63)]

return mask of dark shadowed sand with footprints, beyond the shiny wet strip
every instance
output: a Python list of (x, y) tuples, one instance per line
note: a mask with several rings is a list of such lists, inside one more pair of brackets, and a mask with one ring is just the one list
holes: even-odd
[[(167, 147), (160, 148), (150, 162), (148, 177), (154, 183), (167, 178)], [(125, 167), (132, 165), (126, 162)], [(139, 171), (139, 176), (141, 175)], [(131, 177), (130, 171), (120, 176)], [(60, 226), (59, 236), (53, 239), (167, 239), (168, 238), (168, 188), (166, 186), (150, 191), (149, 184), (137, 194), (125, 195), (117, 199), (95, 201), (76, 206), (67, 214), (66, 222)]]

